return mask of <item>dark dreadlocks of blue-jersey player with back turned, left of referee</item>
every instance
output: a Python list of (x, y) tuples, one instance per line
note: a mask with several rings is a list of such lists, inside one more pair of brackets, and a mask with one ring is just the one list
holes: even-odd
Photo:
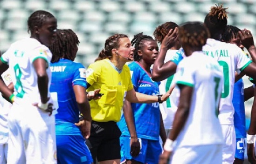
[(76, 58), (74, 51), (77, 49), (79, 43), (76, 33), (72, 30), (57, 30), (55, 39), (49, 46), (53, 54), (51, 62), (55, 63), (62, 58), (74, 61)]

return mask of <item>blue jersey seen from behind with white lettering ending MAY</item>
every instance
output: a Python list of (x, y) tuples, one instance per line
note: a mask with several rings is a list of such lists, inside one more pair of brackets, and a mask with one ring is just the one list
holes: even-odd
[(74, 85), (86, 88), (85, 68), (80, 63), (68, 59), (51, 63), (52, 81), (50, 92), (57, 93), (59, 108), (56, 118), (56, 135), (81, 135), (75, 125), (79, 121), (79, 109), (73, 90)]

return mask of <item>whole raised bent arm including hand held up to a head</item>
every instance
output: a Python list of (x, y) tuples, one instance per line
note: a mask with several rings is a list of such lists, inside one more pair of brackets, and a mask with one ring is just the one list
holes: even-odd
[(161, 48), (157, 59), (154, 62), (152, 69), (152, 80), (162, 81), (176, 72), (177, 65), (172, 61), (164, 63), (166, 58), (166, 52), (172, 46), (174, 46), (175, 41), (178, 38), (179, 29), (176, 27), (174, 30), (170, 30), (162, 41)]

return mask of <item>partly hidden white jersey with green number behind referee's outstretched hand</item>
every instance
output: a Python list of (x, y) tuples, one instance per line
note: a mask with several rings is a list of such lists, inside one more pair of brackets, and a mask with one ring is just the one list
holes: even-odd
[[(178, 50), (168, 50), (166, 53), (165, 63), (170, 61), (177, 51)], [(173, 76), (170, 76), (169, 78), (161, 81), (161, 84), (159, 85), (160, 94), (165, 94), (170, 89), (170, 87), (172, 86), (171, 84), (173, 84), (172, 83)], [(159, 104), (159, 107), (163, 117), (165, 129), (172, 129), (173, 119), (174, 119), (174, 115), (177, 110), (177, 107), (175, 105), (173, 106), (170, 97), (167, 98), (167, 100), (162, 104)]]

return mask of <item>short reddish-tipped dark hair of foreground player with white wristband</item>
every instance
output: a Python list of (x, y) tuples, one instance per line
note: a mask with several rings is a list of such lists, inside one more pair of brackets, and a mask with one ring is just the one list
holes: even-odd
[(208, 29), (201, 22), (187, 22), (179, 28), (181, 44), (202, 47), (210, 37)]

